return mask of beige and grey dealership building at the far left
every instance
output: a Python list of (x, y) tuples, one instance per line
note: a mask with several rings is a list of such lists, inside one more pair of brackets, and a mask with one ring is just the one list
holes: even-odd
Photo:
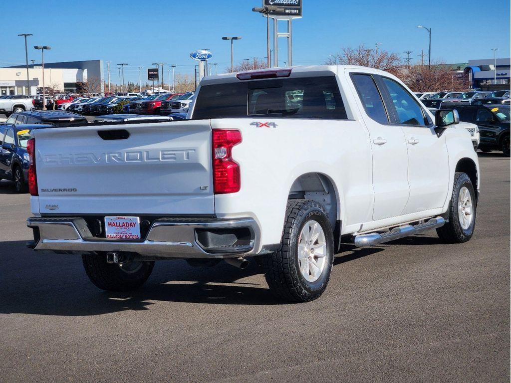
[[(84, 83), (101, 84), (104, 93), (103, 60), (44, 63), (44, 85), (64, 92), (81, 92)], [(30, 94), (42, 87), (41, 64), (29, 65)], [(29, 94), (26, 65), (0, 68), (0, 95)]]

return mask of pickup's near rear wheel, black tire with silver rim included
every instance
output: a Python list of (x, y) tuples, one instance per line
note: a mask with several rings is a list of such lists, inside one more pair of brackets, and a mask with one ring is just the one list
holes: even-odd
[(272, 293), (291, 302), (318, 298), (330, 280), (333, 249), (333, 231), (324, 208), (311, 200), (289, 200), (281, 249), (262, 257)]

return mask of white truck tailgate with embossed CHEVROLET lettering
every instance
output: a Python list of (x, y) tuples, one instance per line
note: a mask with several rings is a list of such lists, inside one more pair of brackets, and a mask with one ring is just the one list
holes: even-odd
[(33, 136), (42, 214), (214, 213), (209, 121), (35, 129)]

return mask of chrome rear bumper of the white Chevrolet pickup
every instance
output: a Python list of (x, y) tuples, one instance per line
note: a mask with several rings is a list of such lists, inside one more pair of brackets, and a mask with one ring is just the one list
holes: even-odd
[[(95, 237), (86, 221), (80, 217), (32, 217), (27, 220), (27, 226), (34, 230), (34, 243), (28, 245), (30, 248), (59, 252), (133, 252), (142, 256), (168, 258), (227, 258), (255, 255), (261, 240), (259, 225), (252, 218), (157, 219), (141, 241)], [(218, 234), (231, 233), (236, 229), (247, 229), (249, 238), (241, 244), (220, 246), (204, 246), (198, 240), (198, 230), (211, 230)]]

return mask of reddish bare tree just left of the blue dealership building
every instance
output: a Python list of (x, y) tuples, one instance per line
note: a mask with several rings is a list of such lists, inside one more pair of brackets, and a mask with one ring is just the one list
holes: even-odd
[(469, 86), (468, 78), (453, 70), (443, 62), (427, 65), (414, 65), (404, 72), (402, 80), (416, 92), (440, 90), (464, 90)]

